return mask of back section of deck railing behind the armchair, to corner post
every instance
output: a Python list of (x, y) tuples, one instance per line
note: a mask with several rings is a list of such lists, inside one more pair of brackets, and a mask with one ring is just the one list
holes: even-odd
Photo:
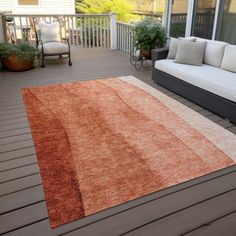
[[(34, 20), (33, 20), (34, 19)], [(3, 15), (5, 40), (13, 43), (34, 41), (33, 22), (44, 20), (60, 22), (61, 36), (80, 47), (116, 48), (115, 14), (73, 15)]]

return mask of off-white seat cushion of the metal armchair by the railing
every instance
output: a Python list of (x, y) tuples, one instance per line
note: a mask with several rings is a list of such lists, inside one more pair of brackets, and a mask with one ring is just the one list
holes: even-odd
[[(43, 44), (44, 54), (53, 55), (53, 54), (66, 54), (69, 53), (69, 47), (65, 43), (61, 42), (48, 42)], [(39, 52), (42, 52), (42, 46), (39, 46)]]

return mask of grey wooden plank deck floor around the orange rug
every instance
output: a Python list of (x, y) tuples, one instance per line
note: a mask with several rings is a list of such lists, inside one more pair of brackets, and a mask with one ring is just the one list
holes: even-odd
[(235, 236), (236, 166), (50, 228), (20, 88), (134, 75), (236, 133), (227, 120), (152, 82), (150, 65), (135, 70), (127, 56), (106, 49), (73, 48), (72, 59), (72, 67), (48, 62), (28, 72), (0, 72), (0, 235)]

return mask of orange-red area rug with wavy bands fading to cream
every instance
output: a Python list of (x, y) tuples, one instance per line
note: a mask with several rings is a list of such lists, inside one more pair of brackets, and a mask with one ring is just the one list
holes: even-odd
[(22, 93), (51, 227), (235, 164), (233, 134), (132, 76)]

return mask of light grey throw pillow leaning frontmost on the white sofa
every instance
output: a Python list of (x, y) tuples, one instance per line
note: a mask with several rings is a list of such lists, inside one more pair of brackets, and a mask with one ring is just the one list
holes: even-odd
[(202, 65), (206, 42), (179, 40), (178, 44), (175, 62), (196, 66)]

